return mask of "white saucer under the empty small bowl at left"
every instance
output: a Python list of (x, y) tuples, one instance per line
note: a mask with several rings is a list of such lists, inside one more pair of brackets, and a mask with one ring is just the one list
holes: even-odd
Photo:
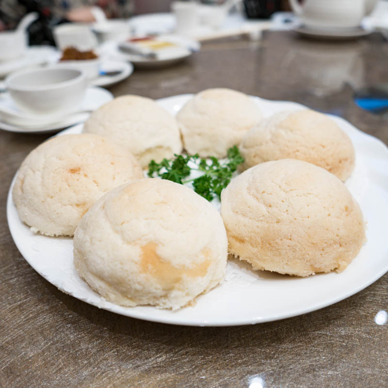
[[(0, 103), (5, 104), (10, 109), (18, 109), (13, 104), (11, 97), (8, 93), (2, 93), (0, 98)], [(96, 110), (101, 105), (106, 104), (107, 102), (113, 99), (113, 94), (106, 89), (90, 86), (86, 90), (85, 97), (81, 103), (81, 110)], [(1, 102), (2, 101), (2, 102)], [(6, 130), (8, 132), (18, 132), (18, 133), (45, 133), (45, 132), (57, 132), (59, 129), (64, 129), (72, 125), (84, 122), (90, 113), (74, 113), (69, 114), (68, 117), (56, 124), (50, 124), (47, 126), (39, 126), (34, 128), (23, 128), (22, 126), (16, 126), (12, 124), (5, 123), (0, 121), (0, 129)]]

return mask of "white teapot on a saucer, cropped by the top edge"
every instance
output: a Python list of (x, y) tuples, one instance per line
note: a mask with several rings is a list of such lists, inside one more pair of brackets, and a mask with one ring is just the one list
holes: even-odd
[(311, 28), (355, 28), (377, 0), (290, 0), (301, 22)]

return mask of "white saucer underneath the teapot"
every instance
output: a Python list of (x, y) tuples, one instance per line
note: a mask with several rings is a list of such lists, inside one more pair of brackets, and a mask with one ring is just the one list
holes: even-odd
[(320, 29), (311, 28), (304, 25), (297, 25), (292, 28), (293, 31), (307, 36), (309, 38), (321, 39), (321, 40), (350, 40), (357, 39), (362, 36), (369, 35), (372, 30), (364, 27), (356, 28), (333, 28), (333, 29)]

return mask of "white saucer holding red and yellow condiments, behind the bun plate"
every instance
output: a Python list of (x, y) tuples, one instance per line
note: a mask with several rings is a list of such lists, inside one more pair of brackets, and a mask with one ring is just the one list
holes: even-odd
[(118, 41), (108, 41), (103, 43), (98, 52), (100, 55), (110, 57), (119, 61), (131, 62), (137, 67), (156, 68), (162, 66), (173, 65), (185, 58), (190, 57), (193, 52), (201, 48), (199, 42), (176, 34), (160, 35), (158, 39), (172, 42), (178, 45), (174, 49), (162, 49), (157, 52), (156, 59), (145, 58), (141, 55), (129, 54), (118, 48)]

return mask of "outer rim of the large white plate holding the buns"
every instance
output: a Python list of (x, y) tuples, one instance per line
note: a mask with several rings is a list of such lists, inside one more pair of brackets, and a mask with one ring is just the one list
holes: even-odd
[[(180, 97), (180, 98), (181, 97), (187, 97), (187, 98), (189, 98), (191, 96), (193, 96), (193, 94), (182, 94), (182, 95), (176, 95), (176, 96), (160, 98), (160, 99), (158, 99), (156, 101), (162, 103), (164, 101), (167, 101), (169, 99), (175, 99), (177, 97)], [(296, 103), (296, 102), (293, 102), (293, 101), (268, 100), (268, 99), (264, 99), (264, 98), (256, 97), (256, 96), (250, 96), (250, 97), (253, 97), (253, 98), (256, 98), (256, 99), (261, 99), (261, 100), (264, 100), (264, 101), (267, 101), (267, 102), (285, 102), (285, 103), (291, 102), (292, 104), (294, 104), (295, 106), (299, 106), (300, 108), (307, 108), (306, 106), (304, 106), (302, 104), (299, 104), (299, 103)], [(368, 133), (365, 133), (365, 132), (361, 131), (360, 129), (357, 129), (354, 125), (352, 125), (349, 121), (343, 119), (342, 117), (339, 117), (339, 116), (336, 116), (336, 115), (333, 115), (333, 114), (327, 114), (327, 115), (330, 116), (330, 117), (336, 117), (337, 120), (339, 119), (339, 120), (345, 122), (346, 124), (351, 126), (352, 130), (357, 131), (361, 136), (365, 136), (365, 137), (369, 138), (371, 141), (373, 141), (375, 144), (379, 144), (381, 149), (382, 150), (384, 149), (383, 152), (386, 154), (386, 158), (387, 158), (387, 161), (388, 161), (388, 147), (380, 139), (378, 139), (378, 138), (376, 138), (376, 137), (374, 137), (374, 136), (372, 136), (372, 135), (370, 135)], [(65, 134), (66, 132), (70, 132), (72, 130), (74, 131), (75, 129), (76, 130), (80, 130), (82, 128), (82, 126), (83, 126), (82, 123), (78, 124), (76, 126), (70, 127), (68, 129), (65, 129), (65, 130), (59, 132), (58, 135)], [(10, 229), (10, 232), (11, 232), (12, 238), (13, 238), (15, 244), (16, 244), (16, 247), (18, 248), (18, 250), (21, 253), (21, 255), (23, 256), (23, 258), (28, 262), (28, 264), (39, 275), (41, 275), (43, 278), (45, 278), (47, 281), (49, 281), (51, 283), (51, 281), (48, 279), (47, 276), (45, 276), (44, 274), (39, 272), (38, 269), (35, 268), (35, 265), (31, 264), (30, 261), (25, 258), (24, 254), (23, 254), (24, 245), (22, 245), (21, 242), (19, 242), (19, 241), (16, 242), (16, 240), (14, 238), (14, 235), (13, 235), (13, 232), (12, 232), (12, 226), (10, 225), (11, 224), (10, 223), (10, 211), (12, 209), (12, 206), (15, 206), (13, 204), (13, 201), (12, 201), (12, 188), (13, 188), (14, 181), (16, 179), (16, 175), (17, 175), (17, 171), (16, 171), (16, 173), (15, 173), (15, 175), (13, 177), (13, 180), (12, 180), (12, 183), (10, 185), (10, 188), (9, 188), (9, 191), (8, 191), (8, 195), (7, 195), (6, 212), (7, 212), (8, 227)], [(71, 239), (71, 238), (68, 238), (68, 239)], [(123, 316), (128, 316), (130, 318), (141, 319), (141, 320), (145, 320), (145, 321), (149, 321), (149, 322), (167, 323), (167, 324), (175, 324), (175, 325), (183, 325), (183, 326), (221, 327), (221, 326), (239, 326), (239, 325), (246, 325), (246, 324), (274, 322), (274, 321), (278, 321), (278, 320), (282, 320), (282, 319), (296, 317), (296, 316), (299, 316), (299, 315), (302, 315), (302, 314), (306, 314), (308, 312), (319, 310), (319, 309), (321, 309), (323, 307), (334, 305), (334, 304), (338, 303), (339, 301), (347, 299), (348, 297), (356, 294), (357, 292), (362, 291), (363, 289), (367, 288), (372, 283), (374, 283), (377, 279), (379, 279), (381, 276), (383, 276), (385, 273), (387, 273), (387, 271), (388, 271), (388, 260), (387, 260), (387, 263), (386, 263), (385, 266), (383, 266), (378, 272), (374, 273), (373, 276), (370, 276), (367, 280), (365, 280), (362, 283), (360, 283), (357, 287), (355, 287), (355, 288), (353, 288), (353, 289), (351, 289), (349, 291), (346, 291), (343, 294), (340, 294), (338, 297), (331, 298), (329, 300), (325, 300), (325, 301), (323, 301), (321, 303), (318, 303), (318, 304), (312, 303), (311, 306), (309, 306), (309, 307), (299, 308), (297, 310), (290, 311), (289, 313), (286, 313), (286, 314), (279, 313), (279, 314), (273, 315), (270, 318), (268, 318), (268, 317), (262, 318), (260, 316), (257, 316), (256, 318), (253, 318), (253, 319), (252, 318), (250, 318), (250, 319), (241, 319), (241, 320), (235, 320), (233, 322), (214, 321), (213, 320), (210, 323), (206, 322), (206, 320), (205, 321), (201, 321), (201, 322), (189, 321), (187, 319), (184, 320), (184, 322), (183, 321), (179, 321), (179, 320), (177, 321), (176, 319), (174, 319), (173, 315), (171, 315), (171, 318), (166, 318), (166, 317), (158, 318), (157, 316), (156, 317), (153, 317), (153, 316), (149, 317), (149, 316), (146, 316), (146, 313), (144, 313), (143, 311), (137, 311), (137, 310), (132, 309), (133, 307), (127, 307), (124, 312), (123, 311), (116, 311), (116, 309), (120, 309), (122, 307), (119, 306), (119, 305), (111, 304), (111, 303), (109, 303), (109, 307), (108, 306), (98, 306), (97, 304), (92, 303), (91, 301), (88, 301), (86, 298), (74, 296), (72, 293), (69, 293), (69, 292), (61, 289), (61, 287), (59, 287), (57, 284), (53, 284), (53, 283), (51, 283), (51, 284), (53, 284), (55, 287), (57, 287), (61, 291), (65, 292), (66, 294), (69, 294), (69, 295), (71, 295), (73, 297), (76, 297), (77, 299), (79, 299), (79, 300), (81, 300), (83, 302), (86, 302), (86, 303), (88, 303), (88, 304), (90, 304), (92, 306), (103, 308), (103, 309), (105, 309), (107, 311), (114, 312), (114, 313), (117, 313), (117, 314), (120, 314), (120, 315), (123, 315)], [(324, 275), (325, 274), (323, 274), (323, 276)], [(153, 309), (156, 308), (156, 307), (149, 307), (149, 306), (141, 306), (141, 307), (153, 308)]]

